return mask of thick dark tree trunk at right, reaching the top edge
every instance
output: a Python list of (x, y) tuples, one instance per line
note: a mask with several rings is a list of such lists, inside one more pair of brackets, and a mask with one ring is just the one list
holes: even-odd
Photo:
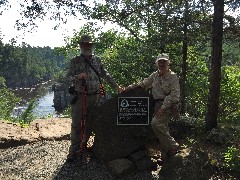
[(224, 0), (213, 0), (214, 17), (212, 26), (212, 57), (208, 109), (205, 117), (206, 130), (217, 128), (221, 85), (222, 37)]

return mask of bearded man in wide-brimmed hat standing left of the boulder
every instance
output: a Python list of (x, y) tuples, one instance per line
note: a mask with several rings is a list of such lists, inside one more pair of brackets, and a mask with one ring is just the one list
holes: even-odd
[[(86, 110), (87, 110), (87, 135), (88, 141), (92, 133), (92, 114), (99, 103), (100, 78), (104, 78), (112, 87), (122, 88), (108, 74), (99, 57), (93, 55), (92, 39), (89, 35), (83, 35), (79, 41), (80, 56), (71, 59), (66, 77), (75, 87), (76, 99), (72, 103), (72, 125), (71, 125), (71, 146), (67, 156), (68, 162), (73, 162), (79, 156), (80, 149), (80, 121), (82, 117), (82, 82), (87, 89)], [(86, 143), (87, 143), (86, 141)]]

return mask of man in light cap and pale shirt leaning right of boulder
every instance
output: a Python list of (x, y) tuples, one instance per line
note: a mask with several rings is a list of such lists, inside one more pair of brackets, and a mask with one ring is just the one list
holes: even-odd
[(169, 134), (168, 123), (173, 117), (172, 106), (179, 102), (180, 85), (177, 75), (169, 69), (170, 60), (167, 54), (160, 54), (155, 63), (158, 67), (156, 72), (142, 82), (128, 86), (125, 91), (137, 86), (152, 87), (155, 105), (151, 126), (159, 139), (162, 159), (166, 159), (179, 152), (179, 144)]

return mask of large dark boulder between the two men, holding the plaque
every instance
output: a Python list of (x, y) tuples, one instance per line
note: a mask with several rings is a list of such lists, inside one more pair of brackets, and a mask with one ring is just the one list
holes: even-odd
[(153, 107), (150, 93), (142, 88), (136, 88), (102, 104), (95, 113), (93, 123), (94, 155), (103, 162), (129, 157), (138, 151), (146, 149), (149, 137), (153, 137), (149, 125), (117, 125), (118, 97), (149, 97), (149, 120)]

